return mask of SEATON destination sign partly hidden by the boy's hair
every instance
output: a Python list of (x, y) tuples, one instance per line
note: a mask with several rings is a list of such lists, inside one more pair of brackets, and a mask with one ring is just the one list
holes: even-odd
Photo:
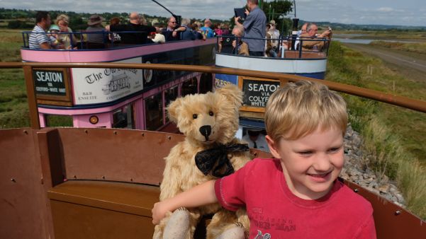
[(269, 96), (279, 89), (279, 81), (242, 79), (244, 99), (242, 105), (249, 107), (266, 107)]

